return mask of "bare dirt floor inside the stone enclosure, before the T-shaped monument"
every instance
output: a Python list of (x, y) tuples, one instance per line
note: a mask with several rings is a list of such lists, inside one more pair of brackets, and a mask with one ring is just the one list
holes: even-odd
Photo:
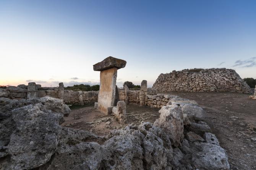
[(79, 109), (71, 108), (71, 110), (70, 115), (65, 117), (65, 122), (62, 123), (62, 126), (87, 130), (97, 135), (107, 135), (111, 130), (124, 128), (131, 123), (135, 125), (139, 125), (141, 121), (154, 123), (159, 118), (159, 109), (147, 106), (141, 107), (133, 103), (126, 106), (128, 122), (125, 124), (120, 124), (112, 115), (96, 112), (93, 106)]

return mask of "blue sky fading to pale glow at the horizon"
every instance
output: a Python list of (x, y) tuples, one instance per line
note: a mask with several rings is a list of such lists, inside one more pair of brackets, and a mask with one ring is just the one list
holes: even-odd
[(0, 85), (99, 84), (96, 64), (124, 59), (117, 85), (159, 74), (234, 69), (256, 79), (255, 0), (0, 0)]

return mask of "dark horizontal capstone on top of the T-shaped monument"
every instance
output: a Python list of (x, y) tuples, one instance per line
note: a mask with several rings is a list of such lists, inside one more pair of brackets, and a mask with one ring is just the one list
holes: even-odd
[(112, 67), (116, 67), (117, 69), (124, 68), (126, 65), (126, 61), (118, 58), (114, 58), (109, 56), (108, 58), (105, 58), (103, 61), (94, 64), (93, 70), (94, 71), (103, 71), (110, 69)]

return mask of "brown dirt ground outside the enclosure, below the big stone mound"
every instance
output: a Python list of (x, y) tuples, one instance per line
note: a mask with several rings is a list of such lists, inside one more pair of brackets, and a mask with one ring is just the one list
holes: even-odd
[(168, 93), (195, 100), (206, 112), (205, 122), (227, 151), (231, 170), (256, 169), (256, 100), (241, 93)]

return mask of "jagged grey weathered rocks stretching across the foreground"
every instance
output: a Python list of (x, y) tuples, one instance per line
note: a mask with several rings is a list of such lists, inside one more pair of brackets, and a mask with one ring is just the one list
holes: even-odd
[(170, 96), (154, 124), (131, 124), (106, 136), (62, 127), (69, 113), (55, 98), (0, 98), (0, 169), (229, 169), (195, 101)]

